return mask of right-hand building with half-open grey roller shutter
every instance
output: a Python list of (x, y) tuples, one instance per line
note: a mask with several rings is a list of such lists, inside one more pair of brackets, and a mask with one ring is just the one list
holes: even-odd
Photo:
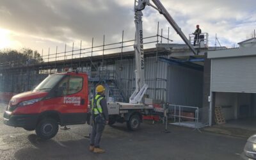
[[(255, 125), (256, 38), (239, 43), (239, 48), (209, 51), (211, 60), (211, 110), (221, 106), (225, 120)], [(243, 123), (244, 122), (244, 123)]]

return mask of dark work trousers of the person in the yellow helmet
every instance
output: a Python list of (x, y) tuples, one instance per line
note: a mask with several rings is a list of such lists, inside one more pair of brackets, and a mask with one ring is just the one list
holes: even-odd
[(104, 131), (105, 124), (104, 123), (95, 123), (93, 120), (93, 125), (92, 125), (92, 134), (90, 135), (90, 145), (93, 145), (96, 148), (100, 147), (100, 138), (102, 136), (102, 133)]

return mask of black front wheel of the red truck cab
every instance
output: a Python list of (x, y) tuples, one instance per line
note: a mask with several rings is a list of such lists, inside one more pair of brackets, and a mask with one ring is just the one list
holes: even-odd
[(58, 129), (59, 125), (56, 120), (44, 118), (36, 125), (36, 135), (43, 140), (49, 140), (57, 134)]

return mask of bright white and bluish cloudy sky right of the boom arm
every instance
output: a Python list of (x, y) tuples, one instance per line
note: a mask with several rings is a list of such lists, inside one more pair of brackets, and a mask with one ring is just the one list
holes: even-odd
[[(182, 26), (185, 33), (191, 33), (191, 27), (200, 24), (202, 31), (209, 33), (210, 42), (215, 34), (222, 45), (231, 45), (246, 38), (248, 31), (256, 26), (256, 1), (163, 1), (173, 18)], [(168, 5), (169, 4), (169, 5)], [(172, 5), (171, 5), (172, 4)], [(214, 43), (211, 43), (213, 45)], [(229, 47), (228, 46), (228, 47)]]

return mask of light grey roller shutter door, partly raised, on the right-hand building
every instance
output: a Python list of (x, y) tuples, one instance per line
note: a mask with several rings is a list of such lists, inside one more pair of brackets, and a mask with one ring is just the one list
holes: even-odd
[(256, 93), (256, 57), (212, 59), (212, 92)]

